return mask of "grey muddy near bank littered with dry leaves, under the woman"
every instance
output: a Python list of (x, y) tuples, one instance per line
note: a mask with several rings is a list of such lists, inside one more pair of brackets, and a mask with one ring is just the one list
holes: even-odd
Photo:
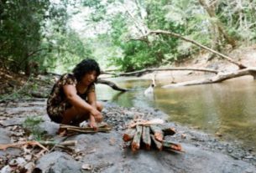
[(45, 99), (0, 103), (0, 144), (33, 140), (34, 136), (22, 126), (28, 116), (42, 117), (44, 121), (38, 129), (44, 131), (44, 140), (77, 141), (72, 150), (55, 148), (39, 157), (35, 156), (38, 154), (36, 148), (26, 149), (27, 152), (24, 148), (0, 150), (0, 171), (13, 171), (10, 165), (16, 161), (23, 166), (34, 164), (34, 172), (256, 172), (255, 151), (171, 122), (166, 125), (175, 127), (177, 134), (169, 138), (180, 143), (185, 153), (157, 150), (133, 153), (122, 141), (127, 123), (134, 116), (142, 115), (144, 119), (159, 117), (165, 120), (166, 114), (157, 109), (128, 109), (104, 104), (104, 120), (112, 125), (110, 133), (60, 137), (55, 135), (59, 125), (50, 122), (46, 115)]

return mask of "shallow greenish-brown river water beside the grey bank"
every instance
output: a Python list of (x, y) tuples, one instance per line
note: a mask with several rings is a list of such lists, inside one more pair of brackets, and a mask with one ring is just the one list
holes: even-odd
[(98, 84), (98, 99), (121, 106), (151, 107), (169, 114), (170, 121), (200, 128), (222, 138), (256, 149), (256, 81), (252, 77), (231, 79), (220, 84), (204, 84), (162, 89), (167, 79), (157, 80), (154, 94), (145, 96), (150, 80), (111, 79), (133, 91), (121, 94)]

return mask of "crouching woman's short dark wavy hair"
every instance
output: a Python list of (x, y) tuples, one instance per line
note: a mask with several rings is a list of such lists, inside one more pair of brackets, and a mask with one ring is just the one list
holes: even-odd
[(99, 64), (94, 59), (84, 59), (80, 64), (77, 64), (73, 69), (73, 74), (78, 81), (81, 81), (82, 77), (90, 73), (91, 71), (96, 71), (97, 77), (101, 74), (101, 69)]

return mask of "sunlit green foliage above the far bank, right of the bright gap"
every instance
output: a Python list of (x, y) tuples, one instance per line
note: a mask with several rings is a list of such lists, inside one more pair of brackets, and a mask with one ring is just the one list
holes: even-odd
[[(120, 1), (119, 3), (121, 5), (117, 6), (117, 8), (125, 6), (126, 8), (124, 9), (129, 12), (118, 11), (118, 13), (108, 14), (108, 16), (104, 16), (104, 20), (106, 21), (107, 18), (108, 22), (111, 21), (111, 28), (107, 32), (110, 37), (107, 39), (111, 40), (112, 43), (109, 46), (122, 48), (123, 53), (121, 57), (111, 56), (108, 59), (110, 59), (111, 64), (124, 71), (171, 64), (180, 59), (190, 58), (192, 53), (200, 50), (200, 48), (191, 43), (186, 43), (170, 36), (154, 35), (134, 41), (131, 38), (139, 38), (139, 36), (143, 35), (143, 23), (146, 24), (146, 28), (179, 33), (186, 38), (191, 38), (209, 47), (212, 46), (214, 38), (217, 37), (212, 32), (212, 23), (219, 23), (220, 21), (222, 26), (228, 26), (228, 28), (224, 29), (227, 29), (225, 31), (231, 38), (237, 40), (244, 38), (252, 40), (255, 38), (256, 32), (253, 29), (247, 28), (247, 31), (250, 30), (250, 32), (241, 32), (243, 33), (242, 36), (233, 28), (235, 23), (238, 24), (236, 22), (238, 18), (236, 17), (239, 15), (238, 13), (233, 13), (231, 17), (228, 16), (233, 11), (232, 8), (238, 8), (238, 4), (231, 0), (217, 3), (216, 8), (213, 8), (216, 9), (216, 17), (210, 17), (206, 9), (197, 0), (140, 0), (131, 1), (130, 3)], [(206, 3), (211, 2), (206, 0)], [(98, 9), (102, 5), (107, 8), (113, 4), (112, 1), (107, 3), (94, 2), (90, 8)], [(253, 15), (255, 12), (253, 12), (252, 7), (254, 6), (252, 2), (243, 2), (243, 7), (244, 17), (250, 19), (255, 17)], [(225, 15), (223, 15), (223, 11), (225, 11)], [(241, 26), (240, 28), (242, 29)], [(244, 30), (244, 27), (242, 30)], [(223, 40), (223, 38), (220, 39)], [(219, 41), (222, 42), (222, 40)]]

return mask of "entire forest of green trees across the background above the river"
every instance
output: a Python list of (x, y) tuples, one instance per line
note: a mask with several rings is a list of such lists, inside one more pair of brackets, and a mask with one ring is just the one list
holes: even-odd
[[(253, 45), (253, 0), (9, 1), (0, 3), (0, 59), (15, 73), (62, 73), (81, 59), (131, 72)], [(157, 32), (159, 30), (159, 32)], [(153, 31), (153, 32), (152, 32)], [(167, 32), (167, 33), (166, 33)], [(208, 59), (219, 58), (210, 53)]]

